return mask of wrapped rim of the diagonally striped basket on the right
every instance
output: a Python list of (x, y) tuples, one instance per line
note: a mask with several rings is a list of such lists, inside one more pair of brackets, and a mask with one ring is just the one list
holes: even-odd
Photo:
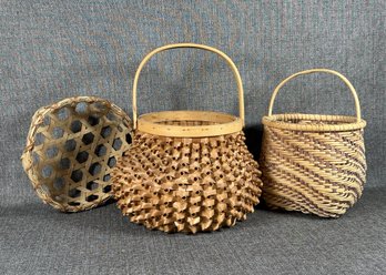
[[(342, 122), (339, 124), (296, 124), (288, 123), (285, 120), (315, 120), (315, 121), (328, 121), (328, 122)], [(262, 123), (265, 126), (294, 130), (304, 132), (341, 132), (360, 130), (366, 126), (366, 121), (360, 120), (357, 122), (356, 116), (351, 115), (332, 115), (332, 114), (305, 114), (305, 113), (282, 113), (263, 116)]]

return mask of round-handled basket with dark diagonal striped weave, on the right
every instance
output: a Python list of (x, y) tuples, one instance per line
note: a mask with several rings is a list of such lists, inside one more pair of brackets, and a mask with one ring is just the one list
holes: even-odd
[[(272, 114), (276, 94), (287, 81), (315, 72), (335, 74), (346, 83), (355, 100), (356, 118)], [(366, 175), (366, 122), (360, 119), (356, 91), (344, 75), (313, 69), (288, 77), (274, 90), (263, 124), (263, 198), (268, 206), (337, 217), (360, 197)]]

